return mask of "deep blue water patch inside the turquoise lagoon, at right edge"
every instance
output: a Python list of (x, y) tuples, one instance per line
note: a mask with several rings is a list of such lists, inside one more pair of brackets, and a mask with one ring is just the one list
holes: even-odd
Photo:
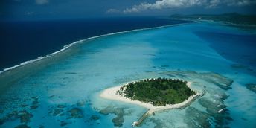
[[(256, 37), (250, 34), (200, 32), (196, 35), (211, 43), (211, 47), (228, 60), (256, 67)], [(243, 40), (243, 41), (241, 41)]]

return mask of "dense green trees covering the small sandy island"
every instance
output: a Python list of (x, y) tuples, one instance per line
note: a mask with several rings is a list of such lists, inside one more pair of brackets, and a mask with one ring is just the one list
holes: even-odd
[(128, 83), (118, 90), (119, 95), (132, 100), (152, 103), (154, 106), (182, 103), (191, 95), (195, 95), (188, 86), (187, 81), (167, 78), (140, 80)]

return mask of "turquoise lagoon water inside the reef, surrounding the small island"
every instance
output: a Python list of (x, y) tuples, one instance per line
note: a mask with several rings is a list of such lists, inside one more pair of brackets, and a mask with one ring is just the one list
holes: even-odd
[[(255, 127), (256, 94), (246, 88), (256, 83), (255, 36), (197, 22), (77, 42), (0, 74), (0, 127), (131, 127), (147, 109), (99, 94), (150, 77), (188, 80), (206, 93), (185, 108), (156, 112), (140, 127)], [(242, 55), (232, 48), (243, 48)]]

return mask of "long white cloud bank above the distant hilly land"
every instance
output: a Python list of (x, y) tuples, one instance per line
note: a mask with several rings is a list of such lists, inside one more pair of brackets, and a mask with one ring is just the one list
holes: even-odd
[(126, 8), (123, 13), (138, 13), (143, 10), (162, 10), (169, 8), (185, 8), (203, 6), (205, 8), (215, 8), (220, 5), (246, 6), (256, 4), (255, 0), (157, 0), (150, 4), (147, 2)]

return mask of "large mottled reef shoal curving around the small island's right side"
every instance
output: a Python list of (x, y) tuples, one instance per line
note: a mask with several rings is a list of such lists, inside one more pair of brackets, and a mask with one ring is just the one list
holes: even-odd
[[(224, 101), (228, 98), (225, 91), (231, 89), (233, 80), (221, 74), (213, 72), (199, 73), (196, 71), (166, 71), (165, 74), (170, 77), (186, 77), (188, 80), (202, 80), (205, 85), (194, 82), (198, 86), (205, 88), (205, 95), (201, 97), (198, 103), (205, 108), (206, 111), (201, 111), (194, 107), (185, 109), (185, 123), (189, 127), (228, 127), (228, 124), (233, 121), (227, 106)], [(214, 85), (214, 86), (211, 86)], [(216, 88), (219, 87), (219, 88)]]

